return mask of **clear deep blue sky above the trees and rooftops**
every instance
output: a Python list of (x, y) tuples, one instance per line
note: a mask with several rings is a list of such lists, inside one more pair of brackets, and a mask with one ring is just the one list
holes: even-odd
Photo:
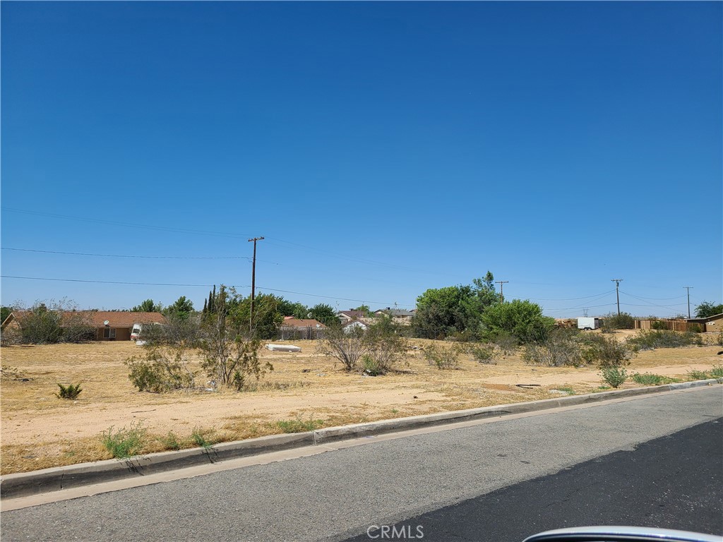
[(722, 301), (720, 2), (0, 10), (3, 304)]

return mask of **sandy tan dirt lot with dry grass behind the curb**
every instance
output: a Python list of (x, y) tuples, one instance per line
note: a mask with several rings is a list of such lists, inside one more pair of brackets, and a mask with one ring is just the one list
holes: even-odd
[[(603, 384), (597, 369), (529, 366), (518, 355), (494, 365), (463, 356), (459, 369), (440, 371), (429, 366), (419, 350), (409, 350), (399, 371), (367, 377), (343, 371), (317, 352), (315, 341), (291, 343), (301, 346), (301, 352), (262, 350), (262, 360), (270, 361), (274, 370), (257, 390), (242, 393), (207, 390), (207, 379), (200, 374), (200, 387), (192, 392), (138, 392), (124, 361), (142, 349), (130, 342), (3, 347), (3, 367), (16, 367), (21, 374), (20, 379), (1, 382), (0, 471), (108, 459), (111, 455), (100, 440), (103, 432), (137, 423), (147, 431), (142, 451), (157, 452), (174, 447), (169, 444), (174, 440), (180, 447), (197, 446), (193, 433), (207, 442), (222, 442), (281, 433), (278, 421), (338, 426), (596, 392)], [(686, 380), (690, 370), (708, 371), (719, 364), (719, 350), (649, 350), (633, 358), (628, 372)], [(192, 368), (197, 369), (197, 360)], [(78, 382), (83, 391), (77, 400), (56, 397), (57, 383)], [(628, 382), (623, 387), (636, 386)]]

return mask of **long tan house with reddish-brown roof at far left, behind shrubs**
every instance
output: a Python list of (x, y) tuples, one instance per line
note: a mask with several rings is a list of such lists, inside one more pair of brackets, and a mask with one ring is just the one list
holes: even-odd
[[(2, 322), (1, 330), (12, 327), (22, 328), (22, 320), (27, 314), (29, 311), (12, 311)], [(160, 312), (64, 311), (62, 313), (62, 320), (67, 321), (77, 317), (82, 317), (85, 323), (95, 328), (95, 340), (131, 340), (133, 324), (168, 323)]]

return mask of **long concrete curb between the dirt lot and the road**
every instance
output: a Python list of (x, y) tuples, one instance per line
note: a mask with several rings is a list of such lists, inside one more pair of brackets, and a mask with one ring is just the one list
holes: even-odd
[(66, 467), (46, 468), (30, 473), (0, 476), (0, 496), (2, 499), (13, 499), (22, 496), (43, 494), (50, 491), (60, 491), (61, 489), (87, 486), (93, 483), (115, 481), (121, 478), (147, 476), (149, 474), (194, 465), (217, 463), (218, 461), (235, 459), (237, 457), (261, 455), (269, 452), (278, 452), (283, 449), (354, 439), (373, 434), (408, 431), (426, 426), (496, 418), (510, 414), (549, 410), (563, 406), (601, 403), (606, 400), (619, 399), (622, 397), (687, 390), (693, 387), (711, 386), (712, 384), (723, 384), (723, 379), (697, 380), (680, 384), (665, 384), (663, 386), (591, 393), (589, 395), (569, 395), (568, 397), (543, 399), (530, 401), (528, 403), (513, 403), (510, 405), (455, 410), (454, 412), (427, 414), (424, 416), (411, 416), (409, 418), (398, 418), (395, 420), (355, 423), (350, 426), (328, 427), (307, 433), (271, 435), (262, 436), (257, 439), (223, 442), (209, 448), (183, 449), (177, 452), (138, 455), (124, 460), (106, 460), (95, 463), (68, 465)]

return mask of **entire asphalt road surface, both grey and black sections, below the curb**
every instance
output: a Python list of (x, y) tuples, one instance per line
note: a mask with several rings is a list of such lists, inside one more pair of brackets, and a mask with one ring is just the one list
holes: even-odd
[(371, 525), (409, 524), (422, 525), (424, 540), (497, 542), (600, 522), (722, 534), (722, 415), (723, 388), (714, 386), (369, 439), (2, 512), (0, 536), (339, 541), (369, 539)]

